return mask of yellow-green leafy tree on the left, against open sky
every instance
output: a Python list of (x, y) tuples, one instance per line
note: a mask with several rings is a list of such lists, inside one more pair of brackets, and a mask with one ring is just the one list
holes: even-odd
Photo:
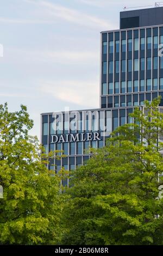
[(0, 244), (52, 244), (60, 235), (60, 179), (46, 168), (26, 106), (0, 106)]

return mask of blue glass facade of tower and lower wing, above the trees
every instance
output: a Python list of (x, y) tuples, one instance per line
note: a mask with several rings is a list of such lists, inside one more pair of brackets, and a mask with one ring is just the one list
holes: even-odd
[[(112, 131), (133, 122), (129, 113), (135, 106), (143, 109), (145, 100), (163, 96), (160, 44), (161, 25), (101, 33), (100, 108), (41, 115), (46, 153), (62, 150), (49, 161), (49, 169), (57, 173), (61, 167), (74, 170), (85, 164), (91, 157), (90, 148), (102, 148)], [(68, 180), (62, 184), (68, 185)]]

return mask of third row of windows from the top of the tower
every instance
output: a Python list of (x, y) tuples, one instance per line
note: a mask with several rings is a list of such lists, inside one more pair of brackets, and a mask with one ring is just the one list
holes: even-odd
[(102, 83), (102, 95), (119, 93), (137, 93), (151, 90), (163, 90), (163, 78), (146, 80), (122, 81), (115, 83)]

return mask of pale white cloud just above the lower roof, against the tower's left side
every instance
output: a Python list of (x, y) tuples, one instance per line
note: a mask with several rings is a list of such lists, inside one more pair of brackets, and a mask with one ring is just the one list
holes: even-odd
[(61, 101), (93, 108), (99, 107), (99, 85), (97, 81), (47, 81), (41, 82), (39, 89), (44, 95), (51, 95)]

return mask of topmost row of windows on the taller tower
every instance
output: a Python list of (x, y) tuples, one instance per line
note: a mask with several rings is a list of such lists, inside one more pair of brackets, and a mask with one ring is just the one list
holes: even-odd
[(158, 36), (148, 36), (147, 38), (134, 38), (134, 39), (122, 39), (115, 40), (115, 41), (104, 41), (103, 42), (103, 54), (107, 54), (107, 51), (109, 53), (119, 53), (120, 52), (120, 46), (121, 46), (121, 52), (130, 52), (130, 51), (139, 51), (139, 50), (151, 50), (157, 49), (158, 44), (163, 43), (163, 35), (160, 35), (160, 40)]

